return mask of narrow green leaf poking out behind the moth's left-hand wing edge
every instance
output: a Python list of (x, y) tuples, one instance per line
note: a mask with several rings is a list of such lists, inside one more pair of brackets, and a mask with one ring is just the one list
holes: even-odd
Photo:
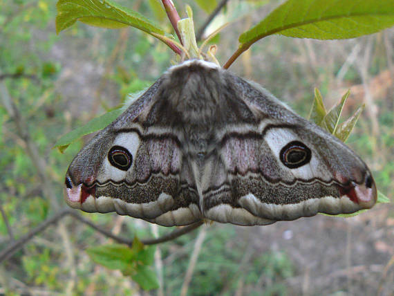
[(93, 131), (98, 131), (99, 129), (104, 129), (108, 124), (113, 122), (118, 116), (123, 112), (122, 109), (115, 109), (113, 111), (107, 112), (97, 118), (93, 118), (83, 127), (78, 127), (73, 131), (66, 133), (62, 138), (59, 138), (55, 143), (54, 147), (57, 147), (60, 152), (64, 152), (75, 140), (87, 135), (88, 133), (93, 133)]

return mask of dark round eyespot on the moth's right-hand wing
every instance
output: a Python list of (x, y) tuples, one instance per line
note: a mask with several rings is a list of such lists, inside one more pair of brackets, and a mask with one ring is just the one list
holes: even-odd
[(297, 169), (297, 167), (302, 167), (310, 162), (312, 153), (302, 142), (292, 141), (281, 149), (279, 158), (286, 167)]

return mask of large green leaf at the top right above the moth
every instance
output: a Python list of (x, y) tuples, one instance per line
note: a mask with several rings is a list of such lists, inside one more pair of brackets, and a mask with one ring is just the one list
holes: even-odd
[(288, 0), (239, 37), (241, 46), (281, 34), (314, 39), (346, 39), (394, 25), (393, 0)]

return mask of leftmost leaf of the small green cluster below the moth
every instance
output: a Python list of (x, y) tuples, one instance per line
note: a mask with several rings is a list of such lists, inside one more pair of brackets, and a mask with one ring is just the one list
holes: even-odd
[(86, 249), (86, 252), (95, 263), (109, 269), (126, 270), (133, 261), (133, 257), (135, 257), (131, 248), (118, 243), (91, 247)]

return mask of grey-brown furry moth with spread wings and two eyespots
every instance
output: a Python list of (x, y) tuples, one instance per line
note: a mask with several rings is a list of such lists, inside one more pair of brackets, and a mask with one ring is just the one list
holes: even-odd
[(266, 225), (373, 207), (366, 164), (261, 86), (203, 60), (172, 66), (75, 156), (65, 199), (165, 226)]

